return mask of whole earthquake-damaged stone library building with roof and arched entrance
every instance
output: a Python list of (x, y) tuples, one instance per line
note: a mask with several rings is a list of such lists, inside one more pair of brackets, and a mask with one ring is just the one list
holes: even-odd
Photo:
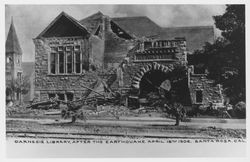
[(105, 84), (128, 101), (163, 89), (184, 105), (222, 104), (220, 85), (187, 62), (189, 53), (213, 40), (207, 26), (162, 28), (147, 17), (101, 12), (78, 21), (62, 12), (33, 39), (35, 98), (76, 100), (91, 93), (86, 87)]

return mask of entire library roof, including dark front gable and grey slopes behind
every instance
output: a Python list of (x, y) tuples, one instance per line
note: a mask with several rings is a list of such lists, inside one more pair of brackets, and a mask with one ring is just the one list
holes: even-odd
[[(107, 22), (110, 24), (106, 24)], [(104, 25), (101, 26), (100, 24)], [(110, 26), (113, 33), (123, 39), (132, 39), (134, 37), (153, 39), (185, 37), (189, 52), (201, 49), (205, 42), (212, 43), (214, 41), (213, 26), (163, 28), (146, 16), (110, 18), (100, 11), (80, 21), (62, 12), (38, 37), (77, 36), (87, 33), (101, 37), (100, 33), (106, 30), (103, 28), (108, 26)]]

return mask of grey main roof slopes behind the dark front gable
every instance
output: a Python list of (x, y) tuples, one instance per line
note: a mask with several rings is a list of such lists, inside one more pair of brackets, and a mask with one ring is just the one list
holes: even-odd
[[(97, 12), (82, 19), (80, 23), (86, 26), (90, 32), (97, 31), (98, 24), (103, 17), (105, 15)], [(114, 17), (110, 19), (129, 35), (139, 38), (174, 39), (175, 37), (185, 37), (189, 52), (201, 49), (205, 42), (212, 43), (214, 41), (214, 28), (212, 25), (164, 28), (146, 16)]]

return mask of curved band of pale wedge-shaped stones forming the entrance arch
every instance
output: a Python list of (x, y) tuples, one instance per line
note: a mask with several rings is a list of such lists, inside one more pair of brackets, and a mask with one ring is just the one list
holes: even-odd
[(138, 72), (133, 76), (132, 87), (135, 89), (139, 89), (140, 82), (141, 82), (143, 76), (151, 70), (158, 70), (158, 71), (161, 71), (163, 73), (169, 73), (169, 72), (172, 72), (174, 70), (174, 67), (172, 65), (165, 66), (165, 65), (162, 65), (162, 64), (159, 64), (156, 62), (146, 64), (145, 66), (140, 68), (140, 70), (138, 70)]

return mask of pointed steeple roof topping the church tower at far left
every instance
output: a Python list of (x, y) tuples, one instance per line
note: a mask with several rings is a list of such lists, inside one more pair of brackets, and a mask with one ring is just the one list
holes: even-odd
[(11, 18), (11, 25), (6, 40), (5, 49), (6, 49), (6, 54), (7, 53), (22, 54), (22, 49), (18, 41), (16, 29), (13, 23), (13, 18)]

